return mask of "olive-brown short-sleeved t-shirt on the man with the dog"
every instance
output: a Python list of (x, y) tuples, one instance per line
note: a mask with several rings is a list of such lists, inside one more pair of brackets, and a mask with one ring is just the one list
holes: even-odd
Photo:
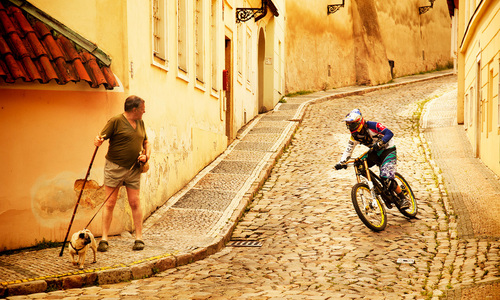
[(106, 159), (115, 164), (130, 168), (137, 162), (137, 157), (142, 150), (142, 145), (148, 139), (143, 120), (136, 121), (136, 129), (130, 125), (123, 114), (109, 119), (101, 135), (109, 139)]

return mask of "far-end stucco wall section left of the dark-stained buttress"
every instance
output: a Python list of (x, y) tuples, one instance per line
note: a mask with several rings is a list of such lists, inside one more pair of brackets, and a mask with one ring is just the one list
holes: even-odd
[(356, 80), (350, 4), (327, 17), (328, 4), (331, 1), (285, 2), (285, 93), (345, 86)]

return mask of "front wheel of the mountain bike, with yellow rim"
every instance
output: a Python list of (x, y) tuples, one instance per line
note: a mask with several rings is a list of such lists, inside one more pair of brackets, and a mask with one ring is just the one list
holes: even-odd
[(365, 183), (357, 183), (351, 191), (354, 209), (366, 227), (382, 231), (387, 226), (385, 207), (378, 198), (373, 199), (370, 188)]

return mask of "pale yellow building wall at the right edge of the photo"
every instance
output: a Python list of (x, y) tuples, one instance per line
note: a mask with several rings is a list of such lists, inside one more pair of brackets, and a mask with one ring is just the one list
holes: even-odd
[(464, 126), (476, 156), (500, 175), (500, 3), (466, 7), (470, 3), (460, 1), (457, 101), (464, 104)]

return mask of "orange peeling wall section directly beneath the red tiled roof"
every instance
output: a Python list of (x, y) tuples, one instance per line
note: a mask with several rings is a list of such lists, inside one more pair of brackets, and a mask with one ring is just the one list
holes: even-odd
[[(75, 182), (85, 178), (95, 150), (93, 138), (123, 98), (119, 90), (95, 90), (86, 83), (14, 87), (0, 84), (0, 139), (5, 141), (0, 148), (0, 251), (64, 239), (78, 197)], [(104, 152), (98, 150), (90, 176), (101, 184), (98, 166)], [(73, 229), (83, 228), (104, 201), (102, 189), (88, 187), (92, 192), (82, 197)], [(124, 211), (122, 205), (115, 215), (122, 217)], [(90, 229), (100, 231), (98, 223)]]

